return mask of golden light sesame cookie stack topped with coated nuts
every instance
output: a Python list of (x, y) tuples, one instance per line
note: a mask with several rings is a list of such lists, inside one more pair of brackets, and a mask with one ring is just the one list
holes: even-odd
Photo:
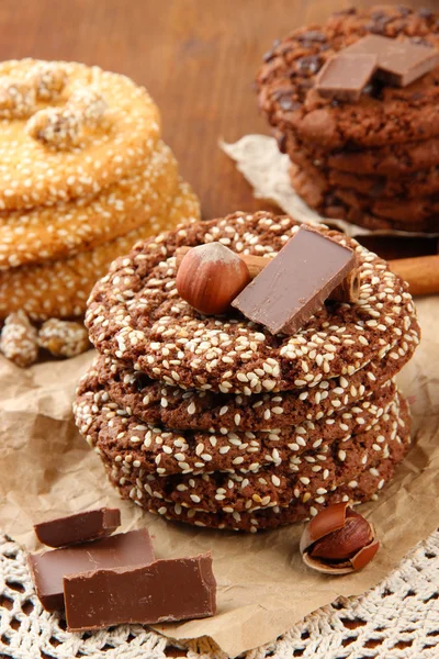
[(115, 257), (199, 217), (157, 107), (124, 76), (2, 63), (0, 122), (0, 320), (82, 316)]

